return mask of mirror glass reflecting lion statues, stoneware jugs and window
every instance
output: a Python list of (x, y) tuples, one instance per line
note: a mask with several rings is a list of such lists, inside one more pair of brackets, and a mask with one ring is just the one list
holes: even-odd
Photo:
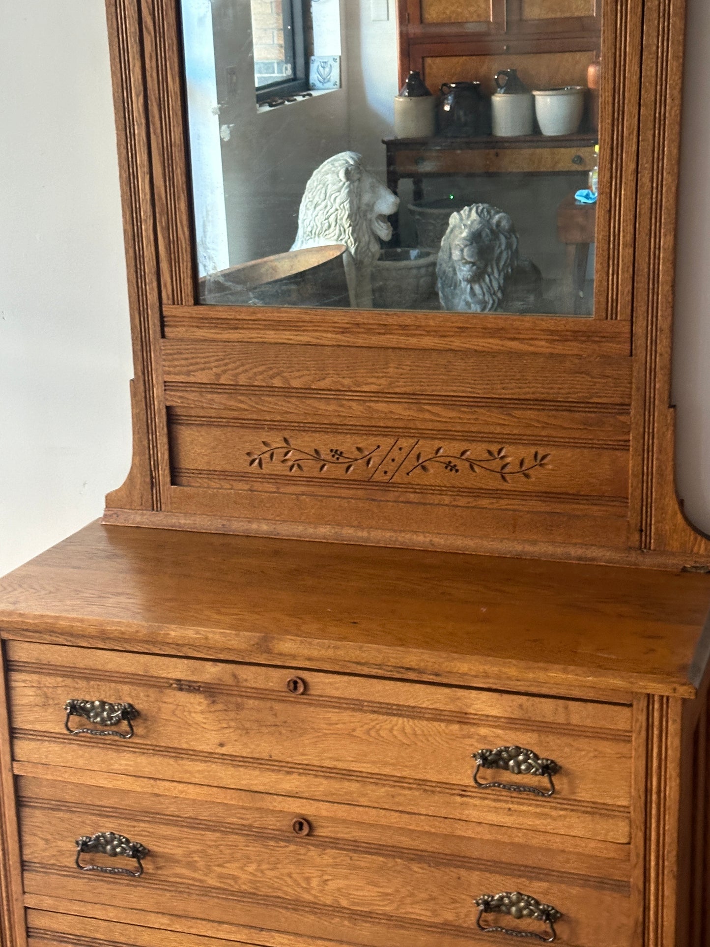
[(182, 0), (200, 301), (592, 315), (598, 6)]

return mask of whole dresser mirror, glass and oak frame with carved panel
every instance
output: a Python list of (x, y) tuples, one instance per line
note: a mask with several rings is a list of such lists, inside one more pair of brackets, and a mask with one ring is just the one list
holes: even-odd
[(670, 405), (680, 0), (107, 9), (135, 441), (105, 522), (705, 562)]

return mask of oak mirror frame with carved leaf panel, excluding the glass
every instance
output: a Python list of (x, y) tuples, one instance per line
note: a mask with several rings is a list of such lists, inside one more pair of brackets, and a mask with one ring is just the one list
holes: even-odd
[(684, 4), (601, 2), (609, 239), (580, 319), (198, 306), (179, 2), (107, 0), (135, 377), (104, 522), (710, 562), (670, 404)]

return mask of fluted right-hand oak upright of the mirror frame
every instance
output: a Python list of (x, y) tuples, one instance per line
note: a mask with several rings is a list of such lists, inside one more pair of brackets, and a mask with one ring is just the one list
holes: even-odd
[[(672, 313), (681, 136), (684, 0), (644, 5), (638, 259), (633, 319), (630, 545), (710, 557), (710, 541), (685, 519), (675, 487), (670, 404)], [(641, 184), (640, 184), (641, 186)]]

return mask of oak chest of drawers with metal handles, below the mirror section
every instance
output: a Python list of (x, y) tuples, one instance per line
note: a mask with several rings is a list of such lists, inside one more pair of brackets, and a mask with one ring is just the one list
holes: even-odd
[(0, 582), (5, 942), (704, 947), (709, 604), (86, 527)]

